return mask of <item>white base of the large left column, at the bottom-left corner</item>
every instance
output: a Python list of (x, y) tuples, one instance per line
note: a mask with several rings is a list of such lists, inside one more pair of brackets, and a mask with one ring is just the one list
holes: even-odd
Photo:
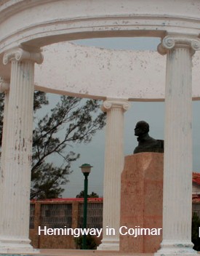
[(0, 237), (0, 256), (1, 254), (23, 254), (36, 255), (39, 249), (33, 249), (30, 239), (11, 239)]

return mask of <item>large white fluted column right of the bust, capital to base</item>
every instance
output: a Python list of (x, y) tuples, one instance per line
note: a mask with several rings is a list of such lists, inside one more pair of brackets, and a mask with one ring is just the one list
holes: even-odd
[(199, 39), (166, 36), (158, 47), (167, 53), (164, 135), (163, 241), (155, 255), (195, 255), (192, 214), (191, 55)]

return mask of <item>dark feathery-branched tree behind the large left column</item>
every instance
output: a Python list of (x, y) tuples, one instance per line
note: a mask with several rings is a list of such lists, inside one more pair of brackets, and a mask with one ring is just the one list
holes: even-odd
[[(4, 95), (1, 94), (0, 109), (3, 108), (3, 100)], [(68, 182), (71, 173), (71, 162), (79, 158), (79, 153), (67, 149), (72, 148), (73, 143), (89, 143), (97, 130), (105, 125), (105, 113), (99, 111), (98, 100), (61, 96), (55, 108), (39, 118), (37, 113), (48, 104), (44, 92), (34, 93), (31, 199), (61, 196), (64, 191), (62, 185)], [(52, 161), (54, 156), (59, 156), (62, 162), (58, 167)]]

